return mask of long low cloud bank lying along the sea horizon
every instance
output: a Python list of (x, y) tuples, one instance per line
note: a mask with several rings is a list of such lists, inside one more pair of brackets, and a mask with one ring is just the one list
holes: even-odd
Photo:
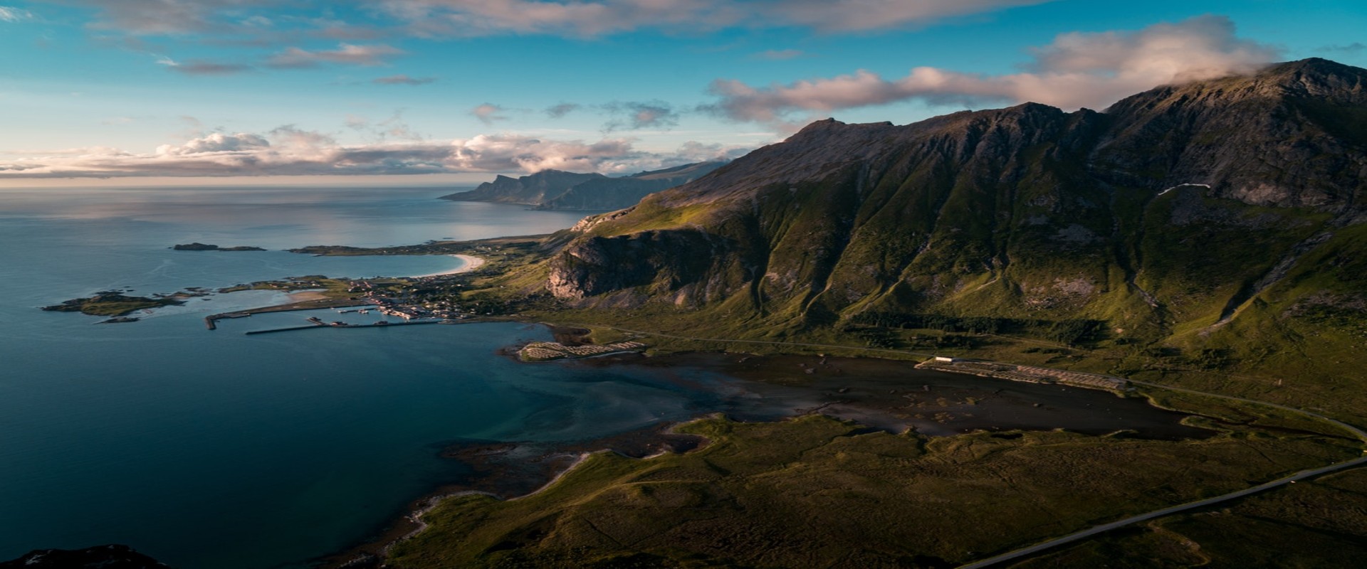
[(133, 176), (309, 176), (470, 172), (627, 173), (681, 164), (729, 160), (749, 149), (689, 142), (677, 151), (638, 150), (627, 138), (552, 141), (498, 134), (442, 142), (338, 145), (331, 136), (291, 126), (269, 132), (211, 132), (182, 145), (135, 154), (94, 147), (0, 161), (0, 180)]

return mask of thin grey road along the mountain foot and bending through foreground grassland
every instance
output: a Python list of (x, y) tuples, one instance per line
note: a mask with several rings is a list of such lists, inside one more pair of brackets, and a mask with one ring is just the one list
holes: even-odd
[[(582, 325), (582, 326), (588, 326), (588, 325)], [(763, 341), (763, 340), (693, 338), (693, 337), (686, 337), (686, 336), (662, 334), (662, 333), (656, 333), (656, 332), (627, 330), (627, 329), (623, 329), (623, 327), (612, 327), (612, 326), (603, 326), (603, 327), (611, 327), (612, 330), (627, 332), (627, 333), (633, 333), (633, 334), (660, 336), (660, 337), (677, 338), (677, 340), (719, 341), (719, 342), (731, 342), (731, 344), (798, 345), (798, 347), (807, 347), (807, 348), (841, 348), (841, 349), (861, 349), (861, 351), (868, 351), (868, 352), (905, 353), (905, 355), (925, 356), (925, 358), (931, 358), (932, 356), (931, 353), (908, 352), (908, 351), (899, 351), (899, 349), (854, 348), (854, 347), (849, 347), (849, 345), (798, 344), (798, 342)], [(1132, 385), (1143, 385), (1143, 386), (1148, 386), (1148, 388), (1167, 389), (1170, 392), (1180, 392), (1180, 393), (1191, 393), (1191, 394), (1204, 396), (1204, 397), (1225, 398), (1225, 400), (1230, 400), (1230, 401), (1241, 401), (1241, 403), (1247, 403), (1247, 404), (1263, 405), (1263, 407), (1271, 407), (1271, 408), (1275, 408), (1275, 409), (1289, 411), (1289, 412), (1293, 412), (1293, 413), (1304, 415), (1304, 416), (1308, 416), (1308, 418), (1312, 418), (1312, 419), (1316, 419), (1316, 420), (1322, 420), (1322, 422), (1334, 424), (1334, 426), (1337, 426), (1337, 427), (1340, 427), (1340, 428), (1342, 428), (1342, 430), (1345, 430), (1348, 433), (1352, 433), (1353, 437), (1357, 437), (1364, 443), (1367, 443), (1367, 431), (1363, 431), (1362, 428), (1353, 427), (1353, 426), (1351, 426), (1348, 423), (1344, 423), (1341, 420), (1330, 419), (1330, 418), (1326, 418), (1323, 415), (1314, 413), (1314, 412), (1310, 412), (1310, 411), (1305, 411), (1305, 409), (1297, 409), (1295, 407), (1288, 407), (1288, 405), (1281, 405), (1281, 404), (1267, 403), (1267, 401), (1258, 401), (1258, 400), (1251, 400), (1251, 398), (1244, 398), (1244, 397), (1223, 396), (1223, 394), (1219, 394), (1219, 393), (1206, 393), (1206, 392), (1197, 392), (1195, 389), (1174, 388), (1174, 386), (1162, 385), (1162, 383), (1151, 383), (1151, 382), (1147, 382), (1147, 381), (1136, 381), (1136, 379), (1126, 379), (1126, 381), (1131, 382)], [(1367, 453), (1367, 450), (1363, 450), (1363, 452)], [(1180, 504), (1180, 505), (1176, 505), (1176, 506), (1163, 508), (1161, 510), (1154, 510), (1154, 512), (1143, 513), (1143, 514), (1139, 514), (1139, 516), (1131, 516), (1131, 517), (1126, 517), (1124, 520), (1115, 520), (1115, 521), (1111, 521), (1109, 524), (1095, 525), (1095, 527), (1091, 527), (1091, 528), (1087, 528), (1087, 529), (1083, 529), (1083, 531), (1079, 531), (1079, 532), (1074, 532), (1074, 534), (1065, 535), (1062, 538), (1050, 539), (1047, 542), (1036, 543), (1036, 544), (1029, 546), (1029, 547), (1023, 547), (1023, 549), (1018, 549), (1018, 550), (1014, 550), (1014, 551), (1003, 553), (1003, 554), (997, 555), (997, 557), (990, 557), (987, 559), (976, 561), (976, 562), (972, 562), (972, 564), (968, 564), (968, 565), (961, 565), (958, 569), (977, 569), (977, 568), (992, 566), (992, 565), (1002, 564), (1002, 562), (1006, 562), (1006, 561), (1018, 559), (1018, 558), (1023, 558), (1023, 557), (1029, 557), (1029, 555), (1033, 555), (1036, 553), (1040, 553), (1040, 551), (1044, 551), (1044, 550), (1048, 550), (1048, 549), (1053, 549), (1053, 547), (1058, 547), (1058, 546), (1062, 546), (1062, 544), (1066, 544), (1066, 543), (1083, 540), (1083, 539), (1087, 539), (1087, 538), (1091, 538), (1094, 535), (1103, 534), (1103, 532), (1107, 532), (1107, 531), (1111, 531), (1111, 529), (1117, 529), (1117, 528), (1122, 528), (1122, 527), (1126, 527), (1126, 525), (1137, 524), (1140, 521), (1148, 521), (1148, 520), (1152, 520), (1152, 519), (1156, 519), (1156, 517), (1163, 517), (1163, 516), (1170, 516), (1170, 514), (1174, 514), (1174, 513), (1181, 513), (1181, 512), (1195, 510), (1195, 509), (1200, 509), (1200, 508), (1207, 508), (1207, 506), (1211, 506), (1211, 505), (1215, 505), (1215, 504), (1228, 502), (1228, 501), (1232, 501), (1232, 499), (1239, 499), (1239, 498), (1243, 498), (1243, 497), (1247, 497), (1247, 495), (1252, 495), (1252, 494), (1258, 494), (1258, 493), (1262, 493), (1262, 491), (1267, 491), (1267, 490), (1271, 490), (1271, 488), (1278, 488), (1278, 487), (1282, 487), (1282, 486), (1286, 486), (1286, 484), (1290, 484), (1290, 483), (1295, 483), (1295, 482), (1299, 482), (1299, 480), (1307, 480), (1307, 479), (1311, 479), (1311, 478), (1315, 478), (1315, 476), (1321, 476), (1321, 475), (1326, 475), (1326, 473), (1330, 473), (1330, 472), (1338, 472), (1338, 471), (1344, 471), (1344, 469), (1349, 469), (1349, 468), (1362, 467), (1364, 464), (1367, 464), (1367, 456), (1363, 456), (1360, 458), (1353, 458), (1353, 460), (1349, 460), (1349, 461), (1344, 461), (1344, 463), (1330, 464), (1330, 465), (1322, 467), (1322, 468), (1312, 468), (1312, 469), (1308, 469), (1308, 471), (1300, 471), (1300, 472), (1296, 472), (1296, 473), (1285, 476), (1285, 478), (1280, 478), (1280, 479), (1273, 480), (1273, 482), (1267, 482), (1267, 483), (1262, 483), (1262, 484), (1254, 486), (1251, 488), (1244, 488), (1244, 490), (1233, 491), (1233, 493), (1229, 493), (1229, 494), (1217, 495), (1214, 498), (1199, 499), (1199, 501), (1195, 501), (1195, 502)]]

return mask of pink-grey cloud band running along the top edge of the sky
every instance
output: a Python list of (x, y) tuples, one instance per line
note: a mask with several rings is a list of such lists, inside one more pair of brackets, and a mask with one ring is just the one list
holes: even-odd
[(89, 5), (96, 12), (93, 27), (134, 35), (253, 35), (288, 20), (309, 22), (317, 37), (347, 40), (380, 34), (601, 37), (640, 29), (696, 33), (793, 26), (849, 33), (920, 26), (1055, 0), (381, 0), (353, 15), (358, 22), (319, 16), (331, 14), (324, 0), (49, 1)]

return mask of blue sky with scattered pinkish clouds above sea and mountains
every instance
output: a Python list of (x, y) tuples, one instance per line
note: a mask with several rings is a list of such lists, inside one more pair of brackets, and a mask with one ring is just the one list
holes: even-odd
[(730, 160), (1325, 57), (1360, 0), (0, 0), (0, 187), (477, 183)]

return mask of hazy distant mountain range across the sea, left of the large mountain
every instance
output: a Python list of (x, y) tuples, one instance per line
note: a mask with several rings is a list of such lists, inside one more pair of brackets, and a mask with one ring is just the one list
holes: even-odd
[(521, 203), (554, 210), (615, 210), (630, 207), (660, 190), (693, 181), (725, 164), (685, 164), (625, 177), (562, 171), (541, 171), (517, 179), (498, 176), (473, 191), (443, 195), (442, 199)]

